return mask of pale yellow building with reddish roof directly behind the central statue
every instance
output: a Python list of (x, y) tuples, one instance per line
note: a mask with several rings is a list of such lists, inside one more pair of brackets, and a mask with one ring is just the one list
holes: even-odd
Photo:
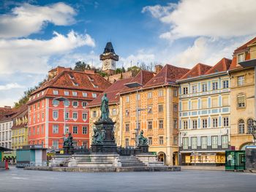
[(132, 78), (127, 78), (124, 80), (118, 80), (113, 83), (109, 88), (105, 90), (104, 93), (101, 93), (99, 96), (97, 96), (96, 99), (91, 101), (91, 103), (87, 106), (90, 109), (90, 141), (92, 139), (92, 134), (94, 133), (94, 123), (99, 119), (100, 117), (100, 104), (102, 96), (107, 93), (107, 97), (109, 99), (109, 110), (110, 110), (110, 118), (116, 122), (114, 126), (115, 131), (115, 138), (116, 138), (116, 145), (121, 146), (121, 137), (120, 137), (120, 96), (119, 92), (125, 88), (125, 85), (127, 82), (132, 80)]

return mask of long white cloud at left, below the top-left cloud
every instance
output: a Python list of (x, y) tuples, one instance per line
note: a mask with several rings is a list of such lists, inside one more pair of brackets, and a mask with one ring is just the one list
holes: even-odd
[(70, 31), (67, 36), (54, 32), (49, 40), (0, 39), (0, 74), (14, 72), (44, 73), (50, 56), (70, 53), (76, 47), (95, 46), (89, 34)]

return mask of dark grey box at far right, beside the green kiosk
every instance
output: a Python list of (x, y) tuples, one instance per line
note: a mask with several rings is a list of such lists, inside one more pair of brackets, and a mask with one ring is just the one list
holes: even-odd
[(245, 150), (246, 171), (255, 171), (256, 172), (256, 146), (247, 146)]

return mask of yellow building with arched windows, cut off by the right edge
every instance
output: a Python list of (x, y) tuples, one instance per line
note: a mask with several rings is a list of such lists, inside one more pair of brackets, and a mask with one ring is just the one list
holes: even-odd
[(233, 61), (229, 70), (231, 85), (230, 145), (232, 150), (244, 150), (246, 145), (253, 144), (251, 126), (256, 115), (255, 68), (249, 63), (255, 61), (255, 58), (256, 37), (238, 47), (233, 53)]

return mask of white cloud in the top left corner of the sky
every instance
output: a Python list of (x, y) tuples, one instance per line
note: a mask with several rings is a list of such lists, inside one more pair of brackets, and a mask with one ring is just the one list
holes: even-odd
[(75, 9), (64, 3), (48, 6), (23, 4), (0, 15), (0, 38), (27, 37), (41, 31), (46, 23), (67, 26), (75, 22)]

